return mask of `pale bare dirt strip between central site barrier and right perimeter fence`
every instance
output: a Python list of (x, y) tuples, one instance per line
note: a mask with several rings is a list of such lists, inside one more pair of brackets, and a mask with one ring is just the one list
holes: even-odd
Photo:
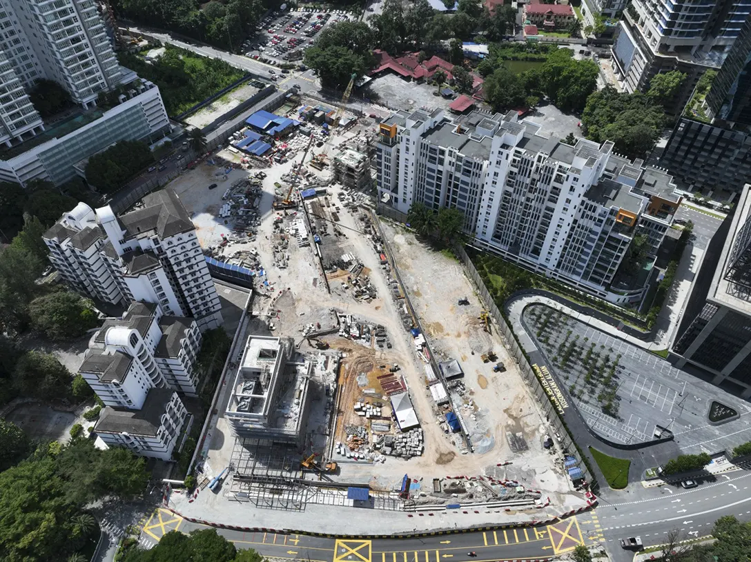
[[(547, 433), (543, 414), (496, 330), (491, 325), (490, 334), (484, 331), (479, 320), (483, 308), (463, 266), (449, 252), (434, 251), (400, 225), (382, 221), (382, 227), (437, 358), (457, 359), (463, 368), (466, 390), (460, 395), (461, 409), (479, 453), (470, 456), (482, 459), (478, 467), (490, 458), (512, 461), (516, 476), (526, 485), (539, 483), (544, 474), (547, 485), (540, 488), (550, 489), (554, 480), (552, 488), (565, 491), (566, 479), (553, 477), (559, 472), (555, 456), (542, 446)], [(465, 298), (469, 305), (459, 305)], [(481, 355), (490, 350), (505, 364), (505, 372), (494, 373), (493, 362), (483, 362)], [(509, 441), (516, 445), (517, 435), (526, 441), (526, 450), (511, 449)]]

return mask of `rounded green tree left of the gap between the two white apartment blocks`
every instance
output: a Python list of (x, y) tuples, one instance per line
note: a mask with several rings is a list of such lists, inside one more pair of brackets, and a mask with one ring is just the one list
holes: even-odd
[(32, 327), (52, 339), (77, 338), (99, 324), (94, 303), (72, 291), (38, 296), (29, 304)]

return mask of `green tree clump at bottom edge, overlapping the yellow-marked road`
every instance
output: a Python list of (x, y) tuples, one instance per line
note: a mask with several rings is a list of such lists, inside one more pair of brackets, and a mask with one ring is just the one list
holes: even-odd
[(150, 550), (131, 548), (123, 562), (262, 562), (252, 548), (238, 551), (216, 529), (195, 530), (189, 535), (170, 531)]

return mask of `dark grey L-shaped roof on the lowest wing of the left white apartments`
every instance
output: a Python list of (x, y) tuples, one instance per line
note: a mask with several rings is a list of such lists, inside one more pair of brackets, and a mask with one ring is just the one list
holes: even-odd
[(161, 416), (174, 394), (172, 389), (150, 389), (140, 410), (107, 406), (101, 411), (95, 431), (156, 437), (161, 426)]

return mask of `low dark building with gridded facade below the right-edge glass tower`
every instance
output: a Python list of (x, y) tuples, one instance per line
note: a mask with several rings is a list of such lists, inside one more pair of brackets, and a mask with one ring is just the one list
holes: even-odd
[(685, 189), (740, 191), (751, 182), (751, 133), (681, 117), (660, 164)]

